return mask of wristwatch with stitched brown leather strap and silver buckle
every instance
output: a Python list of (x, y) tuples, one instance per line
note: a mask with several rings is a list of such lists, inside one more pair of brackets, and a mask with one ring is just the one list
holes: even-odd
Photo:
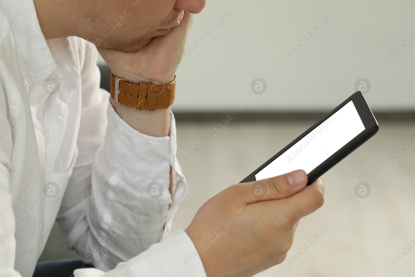
[(117, 103), (139, 110), (168, 108), (174, 102), (175, 88), (176, 76), (170, 83), (156, 85), (154, 82), (134, 83), (111, 73), (111, 98)]

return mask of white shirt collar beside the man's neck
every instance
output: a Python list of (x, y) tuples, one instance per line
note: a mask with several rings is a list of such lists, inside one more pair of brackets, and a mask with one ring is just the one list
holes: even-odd
[(17, 22), (10, 31), (15, 37), (15, 50), (20, 59), (26, 87), (44, 80), (54, 71), (58, 78), (63, 78), (40, 29), (33, 1), (1, 0), (1, 2), (9, 20), (14, 19)]

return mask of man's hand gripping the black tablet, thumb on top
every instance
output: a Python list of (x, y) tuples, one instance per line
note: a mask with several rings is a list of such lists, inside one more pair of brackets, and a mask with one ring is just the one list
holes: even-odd
[[(322, 179), (306, 186), (303, 170), (260, 180), (268, 187), (263, 199), (251, 194), (257, 182), (236, 184), (213, 196), (186, 229), (207, 277), (253, 276), (283, 262), (299, 219), (324, 202)], [(225, 233), (217, 235), (219, 227)]]

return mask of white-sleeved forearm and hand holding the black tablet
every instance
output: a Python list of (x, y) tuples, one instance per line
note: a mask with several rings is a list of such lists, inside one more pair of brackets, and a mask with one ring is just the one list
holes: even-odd
[(251, 192), (257, 182), (230, 186), (209, 199), (186, 229), (188, 235), (178, 231), (106, 273), (75, 270), (74, 276), (164, 277), (180, 272), (186, 277), (248, 277), (281, 263), (299, 219), (324, 202), (322, 179), (306, 187), (307, 174), (298, 170), (261, 180), (268, 188), (263, 199)]

